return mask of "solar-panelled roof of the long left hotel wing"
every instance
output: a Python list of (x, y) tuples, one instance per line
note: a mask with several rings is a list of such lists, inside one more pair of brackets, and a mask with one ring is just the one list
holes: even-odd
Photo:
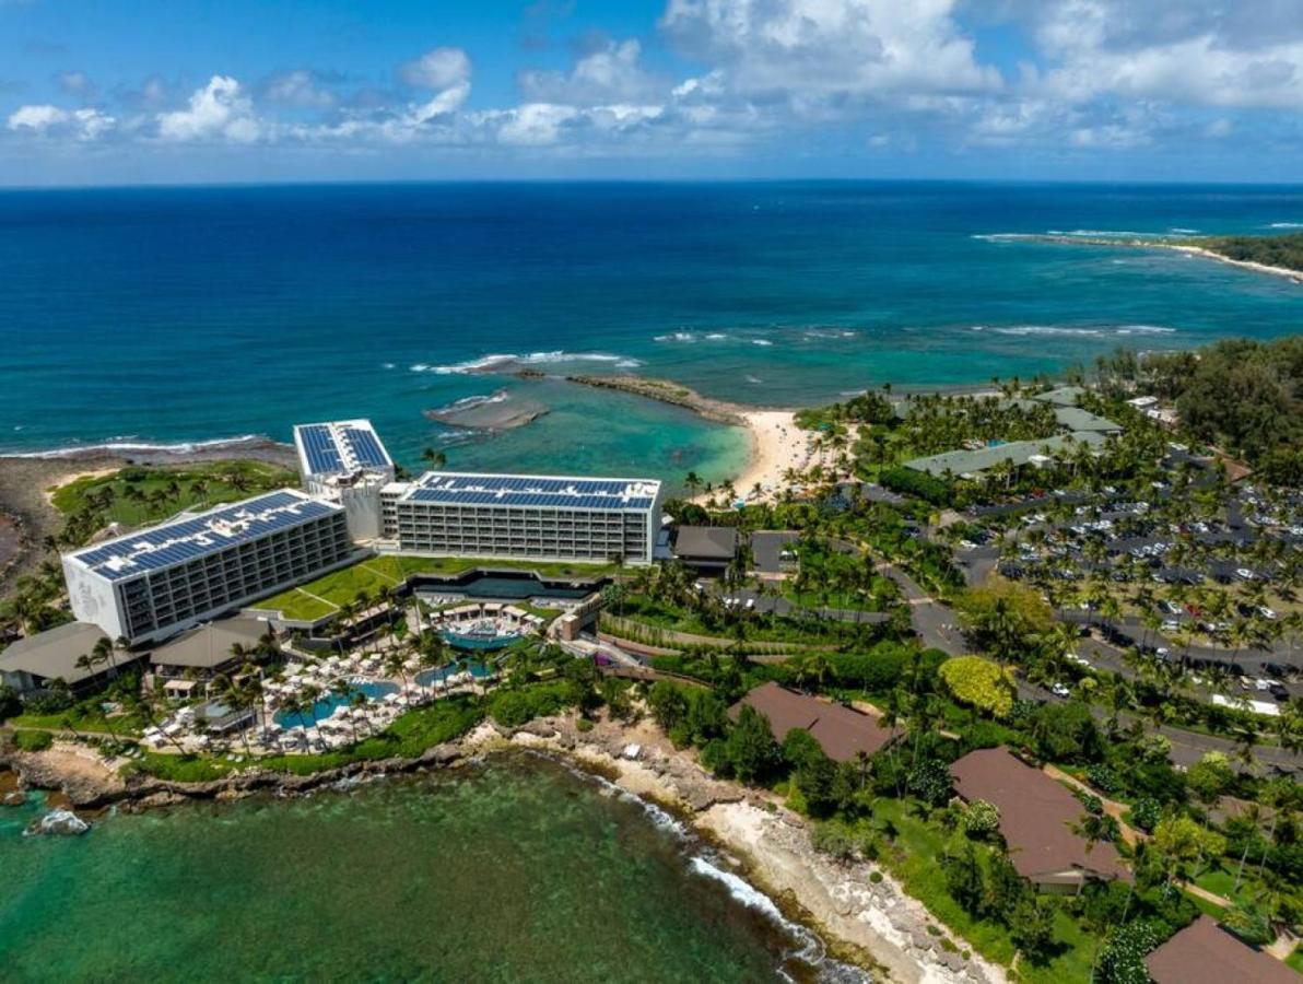
[(281, 489), (207, 512), (184, 512), (156, 527), (74, 550), (64, 559), (112, 581), (215, 554), (332, 512), (343, 514), (343, 507), (297, 489)]

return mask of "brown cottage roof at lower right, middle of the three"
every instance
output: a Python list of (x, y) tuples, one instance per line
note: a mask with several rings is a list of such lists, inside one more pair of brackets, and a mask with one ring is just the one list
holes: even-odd
[(950, 773), (964, 800), (984, 799), (999, 811), (999, 833), (1024, 878), (1072, 868), (1130, 877), (1113, 845), (1100, 842), (1087, 851), (1085, 839), (1072, 833), (1085, 812), (1076, 796), (1006, 749), (969, 752), (950, 766)]

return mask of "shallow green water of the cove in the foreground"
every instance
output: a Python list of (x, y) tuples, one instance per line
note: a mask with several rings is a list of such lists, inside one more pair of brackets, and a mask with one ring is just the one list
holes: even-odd
[[(804, 945), (547, 760), (113, 816), (0, 811), (0, 977), (765, 981)], [(810, 968), (791, 961), (797, 979)]]

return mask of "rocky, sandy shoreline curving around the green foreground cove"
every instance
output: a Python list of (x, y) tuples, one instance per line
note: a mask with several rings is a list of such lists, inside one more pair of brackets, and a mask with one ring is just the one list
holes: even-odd
[[(809, 825), (764, 791), (709, 775), (689, 752), (675, 749), (650, 721), (627, 726), (601, 721), (581, 732), (577, 718), (539, 718), (517, 729), (481, 722), (456, 742), (435, 745), (413, 760), (353, 762), (311, 775), (251, 769), (210, 783), (126, 781), (83, 749), (13, 752), (0, 760), (27, 789), (60, 790), (82, 811), (143, 812), (192, 800), (224, 802), (258, 794), (306, 795), (345, 790), (369, 778), (459, 768), (509, 751), (532, 751), (611, 782), (644, 803), (670, 812), (706, 843), (739, 863), (745, 880), (784, 918), (818, 934), (838, 961), (900, 984), (975, 984), (1006, 980), (1002, 968), (976, 954), (932, 919), (886, 872), (864, 861), (840, 863), (814, 850)], [(638, 744), (641, 753), (623, 751)], [(96, 774), (98, 773), (98, 774)], [(881, 871), (881, 869), (877, 869)], [(937, 927), (933, 936), (928, 927)], [(942, 940), (947, 941), (946, 944)], [(954, 949), (947, 949), (954, 948)]]

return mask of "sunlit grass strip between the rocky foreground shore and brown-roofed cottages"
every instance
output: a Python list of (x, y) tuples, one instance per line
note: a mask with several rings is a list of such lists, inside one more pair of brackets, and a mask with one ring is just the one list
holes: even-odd
[[(895, 876), (911, 895), (923, 902), (937, 920), (945, 923), (990, 961), (1009, 966), (1018, 948), (1009, 931), (994, 921), (975, 919), (946, 891), (946, 876), (937, 863), (945, 851), (950, 832), (928, 824), (894, 799), (878, 799), (874, 817), (896, 828), (894, 850), (882, 854), (882, 865)], [(1019, 962), (1019, 979), (1059, 984), (1066, 980), (1088, 980), (1095, 940), (1067, 912), (1054, 918), (1054, 937), (1065, 950), (1042, 966)]]

